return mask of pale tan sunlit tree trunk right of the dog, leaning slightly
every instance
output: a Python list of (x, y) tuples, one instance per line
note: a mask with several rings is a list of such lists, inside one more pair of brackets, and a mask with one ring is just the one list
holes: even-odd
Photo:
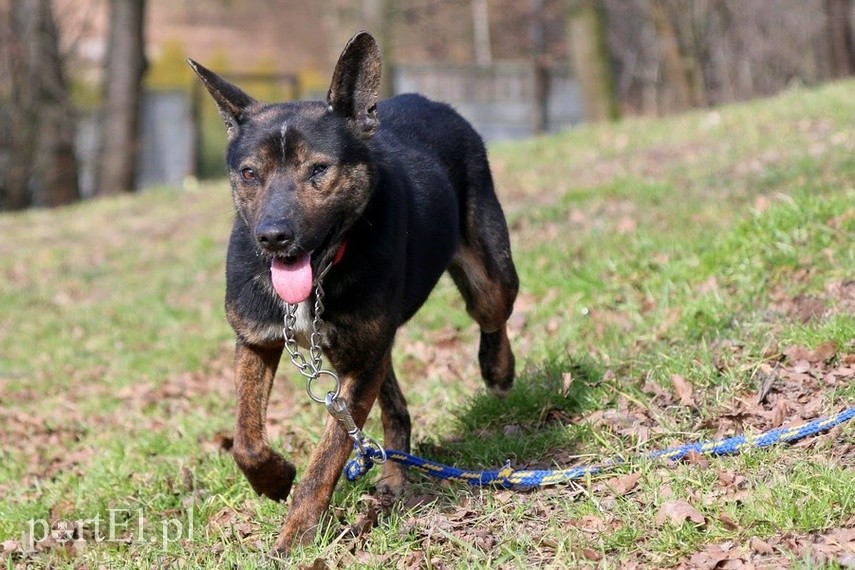
[(589, 121), (620, 116), (606, 42), (606, 15), (600, 0), (570, 0), (567, 39)]

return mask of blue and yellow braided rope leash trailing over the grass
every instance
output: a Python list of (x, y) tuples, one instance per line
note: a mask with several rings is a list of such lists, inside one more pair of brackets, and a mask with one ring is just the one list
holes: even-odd
[[(797, 441), (830, 430), (852, 418), (855, 418), (855, 407), (800, 426), (776, 428), (756, 436), (739, 435), (725, 439), (669, 447), (668, 449), (654, 451), (648, 454), (647, 458), (676, 461), (692, 452), (706, 455), (733, 455), (749, 448), (759, 449), (778, 443)], [(532, 487), (546, 487), (559, 483), (567, 483), (568, 481), (580, 479), (587, 475), (594, 475), (609, 467), (624, 463), (623, 458), (617, 457), (601, 465), (581, 465), (567, 469), (516, 470), (511, 467), (511, 463), (508, 461), (501, 469), (480, 471), (474, 469), (457, 469), (456, 467), (429, 461), (394, 449), (387, 449), (385, 453), (387, 460), (395, 461), (405, 467), (417, 469), (432, 477), (462, 481), (473, 486), (496, 485), (509, 489), (530, 489)], [(380, 457), (380, 452), (366, 447), (364, 451), (360, 451), (356, 458), (352, 459), (345, 467), (344, 471), (347, 479), (349, 481), (356, 481), (371, 469), (374, 465), (374, 459)]]

